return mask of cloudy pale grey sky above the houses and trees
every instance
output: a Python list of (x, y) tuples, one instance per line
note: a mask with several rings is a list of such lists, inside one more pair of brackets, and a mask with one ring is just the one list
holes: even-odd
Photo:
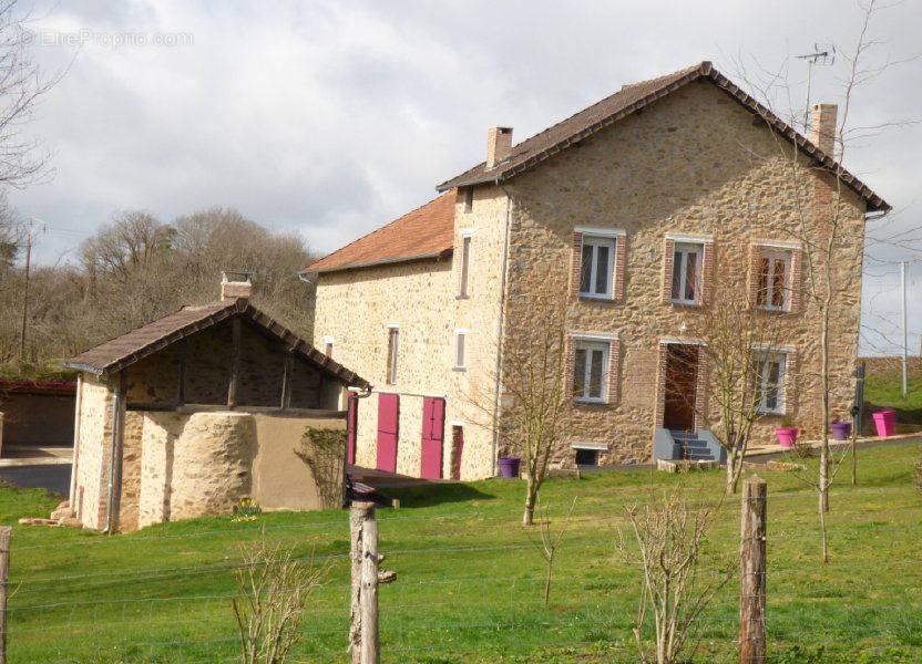
[[(861, 15), (849, 0), (646, 2), (213, 2), (35, 0), (34, 58), (69, 66), (31, 129), (53, 177), (10, 198), (45, 222), (42, 262), (122, 209), (168, 221), (234, 206), (329, 251), (434, 196), (483, 157), (485, 128), (515, 138), (623, 83), (713, 60), (788, 64), (802, 104), (816, 43), (853, 49)], [(883, 11), (873, 62), (916, 54), (922, 1)], [(816, 68), (813, 101), (838, 101), (846, 59)], [(922, 116), (922, 61), (858, 91), (856, 126)], [(782, 105), (786, 102), (781, 101)], [(870, 226), (865, 351), (892, 351), (899, 268), (910, 264), (910, 345), (922, 333), (922, 125), (850, 148), (847, 165), (897, 208)], [(894, 240), (899, 232), (906, 236)]]

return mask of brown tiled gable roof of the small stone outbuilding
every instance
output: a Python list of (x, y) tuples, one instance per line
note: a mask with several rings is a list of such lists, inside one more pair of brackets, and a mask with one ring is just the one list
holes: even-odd
[(202, 307), (183, 307), (175, 313), (147, 323), (127, 334), (111, 339), (68, 360), (70, 369), (89, 371), (96, 375), (121, 371), (147, 355), (161, 351), (183, 339), (225, 321), (240, 317), (263, 333), (277, 340), (309, 364), (331, 374), (347, 385), (369, 387), (368, 381), (349, 371), (331, 357), (276, 322), (246, 299), (214, 302)]

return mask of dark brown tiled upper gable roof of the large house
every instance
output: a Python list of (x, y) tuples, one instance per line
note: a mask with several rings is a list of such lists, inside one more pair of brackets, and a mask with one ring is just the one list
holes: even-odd
[(771, 111), (714, 69), (714, 65), (708, 61), (658, 79), (625, 85), (615, 94), (513, 146), (509, 158), (496, 164), (493, 168), (488, 169), (486, 163), (482, 162), (461, 175), (445, 180), (437, 189), (444, 191), (454, 187), (506, 180), (537, 166), (562, 149), (566, 149), (571, 145), (698, 79), (710, 80), (737, 102), (764, 118), (779, 135), (797, 145), (817, 163), (833, 173), (838, 173), (842, 181), (867, 201), (869, 210), (889, 211), (891, 209), (885, 200), (834, 162), (832, 155), (827, 155), (820, 151), (793, 127), (782, 122)]

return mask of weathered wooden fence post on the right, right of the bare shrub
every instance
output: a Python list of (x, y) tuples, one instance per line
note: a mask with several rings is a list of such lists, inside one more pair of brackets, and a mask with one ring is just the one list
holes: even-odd
[(765, 663), (766, 498), (759, 477), (742, 483), (740, 510), (739, 664)]

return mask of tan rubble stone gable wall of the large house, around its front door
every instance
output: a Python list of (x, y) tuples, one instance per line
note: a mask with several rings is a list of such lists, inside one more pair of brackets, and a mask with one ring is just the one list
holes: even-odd
[[(797, 239), (785, 231), (799, 219), (788, 168), (765, 125), (715, 86), (693, 83), (510, 183), (508, 343), (534, 343), (527, 300), (514, 293), (546, 292), (568, 279), (576, 227), (626, 231), (624, 299), (574, 299), (567, 310), (570, 330), (617, 334), (619, 396), (609, 405), (570, 408), (568, 439), (556, 461), (573, 463), (573, 443), (606, 444), (601, 463), (650, 458), (662, 400), (659, 342), (682, 338), (683, 325), (694, 329), (703, 315), (697, 308), (663, 301), (664, 237), (713, 237), (713, 278), (745, 290), (750, 243)], [(805, 170), (802, 177), (811, 188), (820, 176)], [(850, 190), (844, 197), (831, 317), (833, 415), (847, 412), (852, 397), (861, 297), (864, 206)], [(793, 418), (815, 435), (821, 426), (819, 401), (808, 377), (819, 370), (818, 312), (805, 301), (799, 312), (776, 315), (798, 357), (798, 374), (790, 376), (798, 381)], [(754, 437), (771, 438), (778, 424), (778, 416), (764, 417)]]

